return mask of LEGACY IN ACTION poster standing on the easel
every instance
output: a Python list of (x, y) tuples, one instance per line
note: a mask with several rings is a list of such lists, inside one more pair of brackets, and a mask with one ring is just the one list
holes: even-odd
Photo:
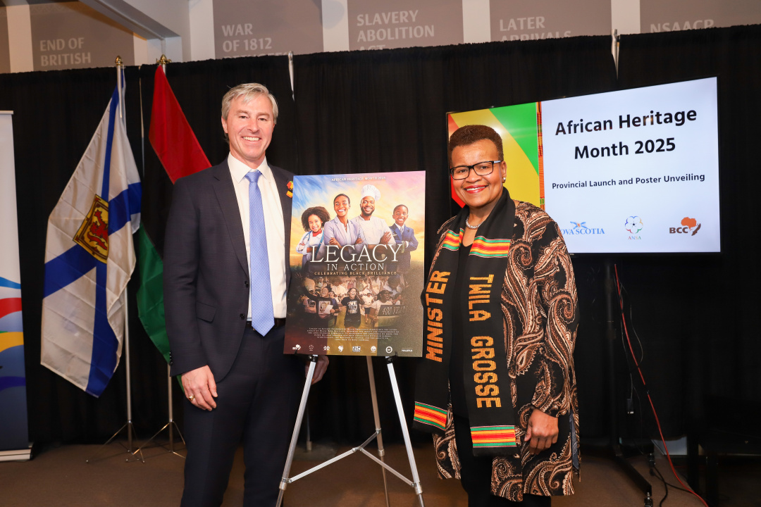
[(421, 356), (425, 172), (293, 183), (284, 352)]

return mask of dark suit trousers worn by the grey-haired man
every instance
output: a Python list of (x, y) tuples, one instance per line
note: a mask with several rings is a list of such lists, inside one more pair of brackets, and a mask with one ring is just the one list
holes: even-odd
[(182, 507), (221, 505), (237, 446), (244, 445), (244, 505), (275, 505), (304, 387), (304, 362), (283, 354), (285, 326), (262, 336), (250, 326), (233, 366), (217, 382), (211, 412), (185, 401)]

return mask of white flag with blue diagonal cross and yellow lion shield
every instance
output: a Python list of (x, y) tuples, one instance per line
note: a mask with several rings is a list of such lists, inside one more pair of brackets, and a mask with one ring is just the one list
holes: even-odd
[(114, 90), (50, 214), (45, 246), (41, 363), (96, 397), (122, 355), (140, 223), (140, 177), (119, 98)]

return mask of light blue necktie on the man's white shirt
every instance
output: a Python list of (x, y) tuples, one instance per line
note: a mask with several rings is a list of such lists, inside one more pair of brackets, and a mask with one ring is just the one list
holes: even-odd
[(264, 208), (259, 177), (262, 173), (246, 173), (248, 185), (248, 239), (249, 272), (251, 275), (251, 326), (264, 336), (275, 325), (272, 310), (272, 288), (269, 283), (269, 256), (267, 255), (267, 235), (264, 228)]

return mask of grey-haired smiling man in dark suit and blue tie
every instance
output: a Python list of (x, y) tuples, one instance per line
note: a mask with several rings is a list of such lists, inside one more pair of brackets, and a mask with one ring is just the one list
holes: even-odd
[[(171, 373), (185, 390), (182, 505), (220, 505), (244, 444), (244, 505), (275, 505), (303, 363), (283, 354), (293, 175), (266, 149), (278, 109), (261, 84), (222, 99), (230, 154), (177, 180), (164, 248)], [(323, 375), (320, 356), (314, 382)]]

